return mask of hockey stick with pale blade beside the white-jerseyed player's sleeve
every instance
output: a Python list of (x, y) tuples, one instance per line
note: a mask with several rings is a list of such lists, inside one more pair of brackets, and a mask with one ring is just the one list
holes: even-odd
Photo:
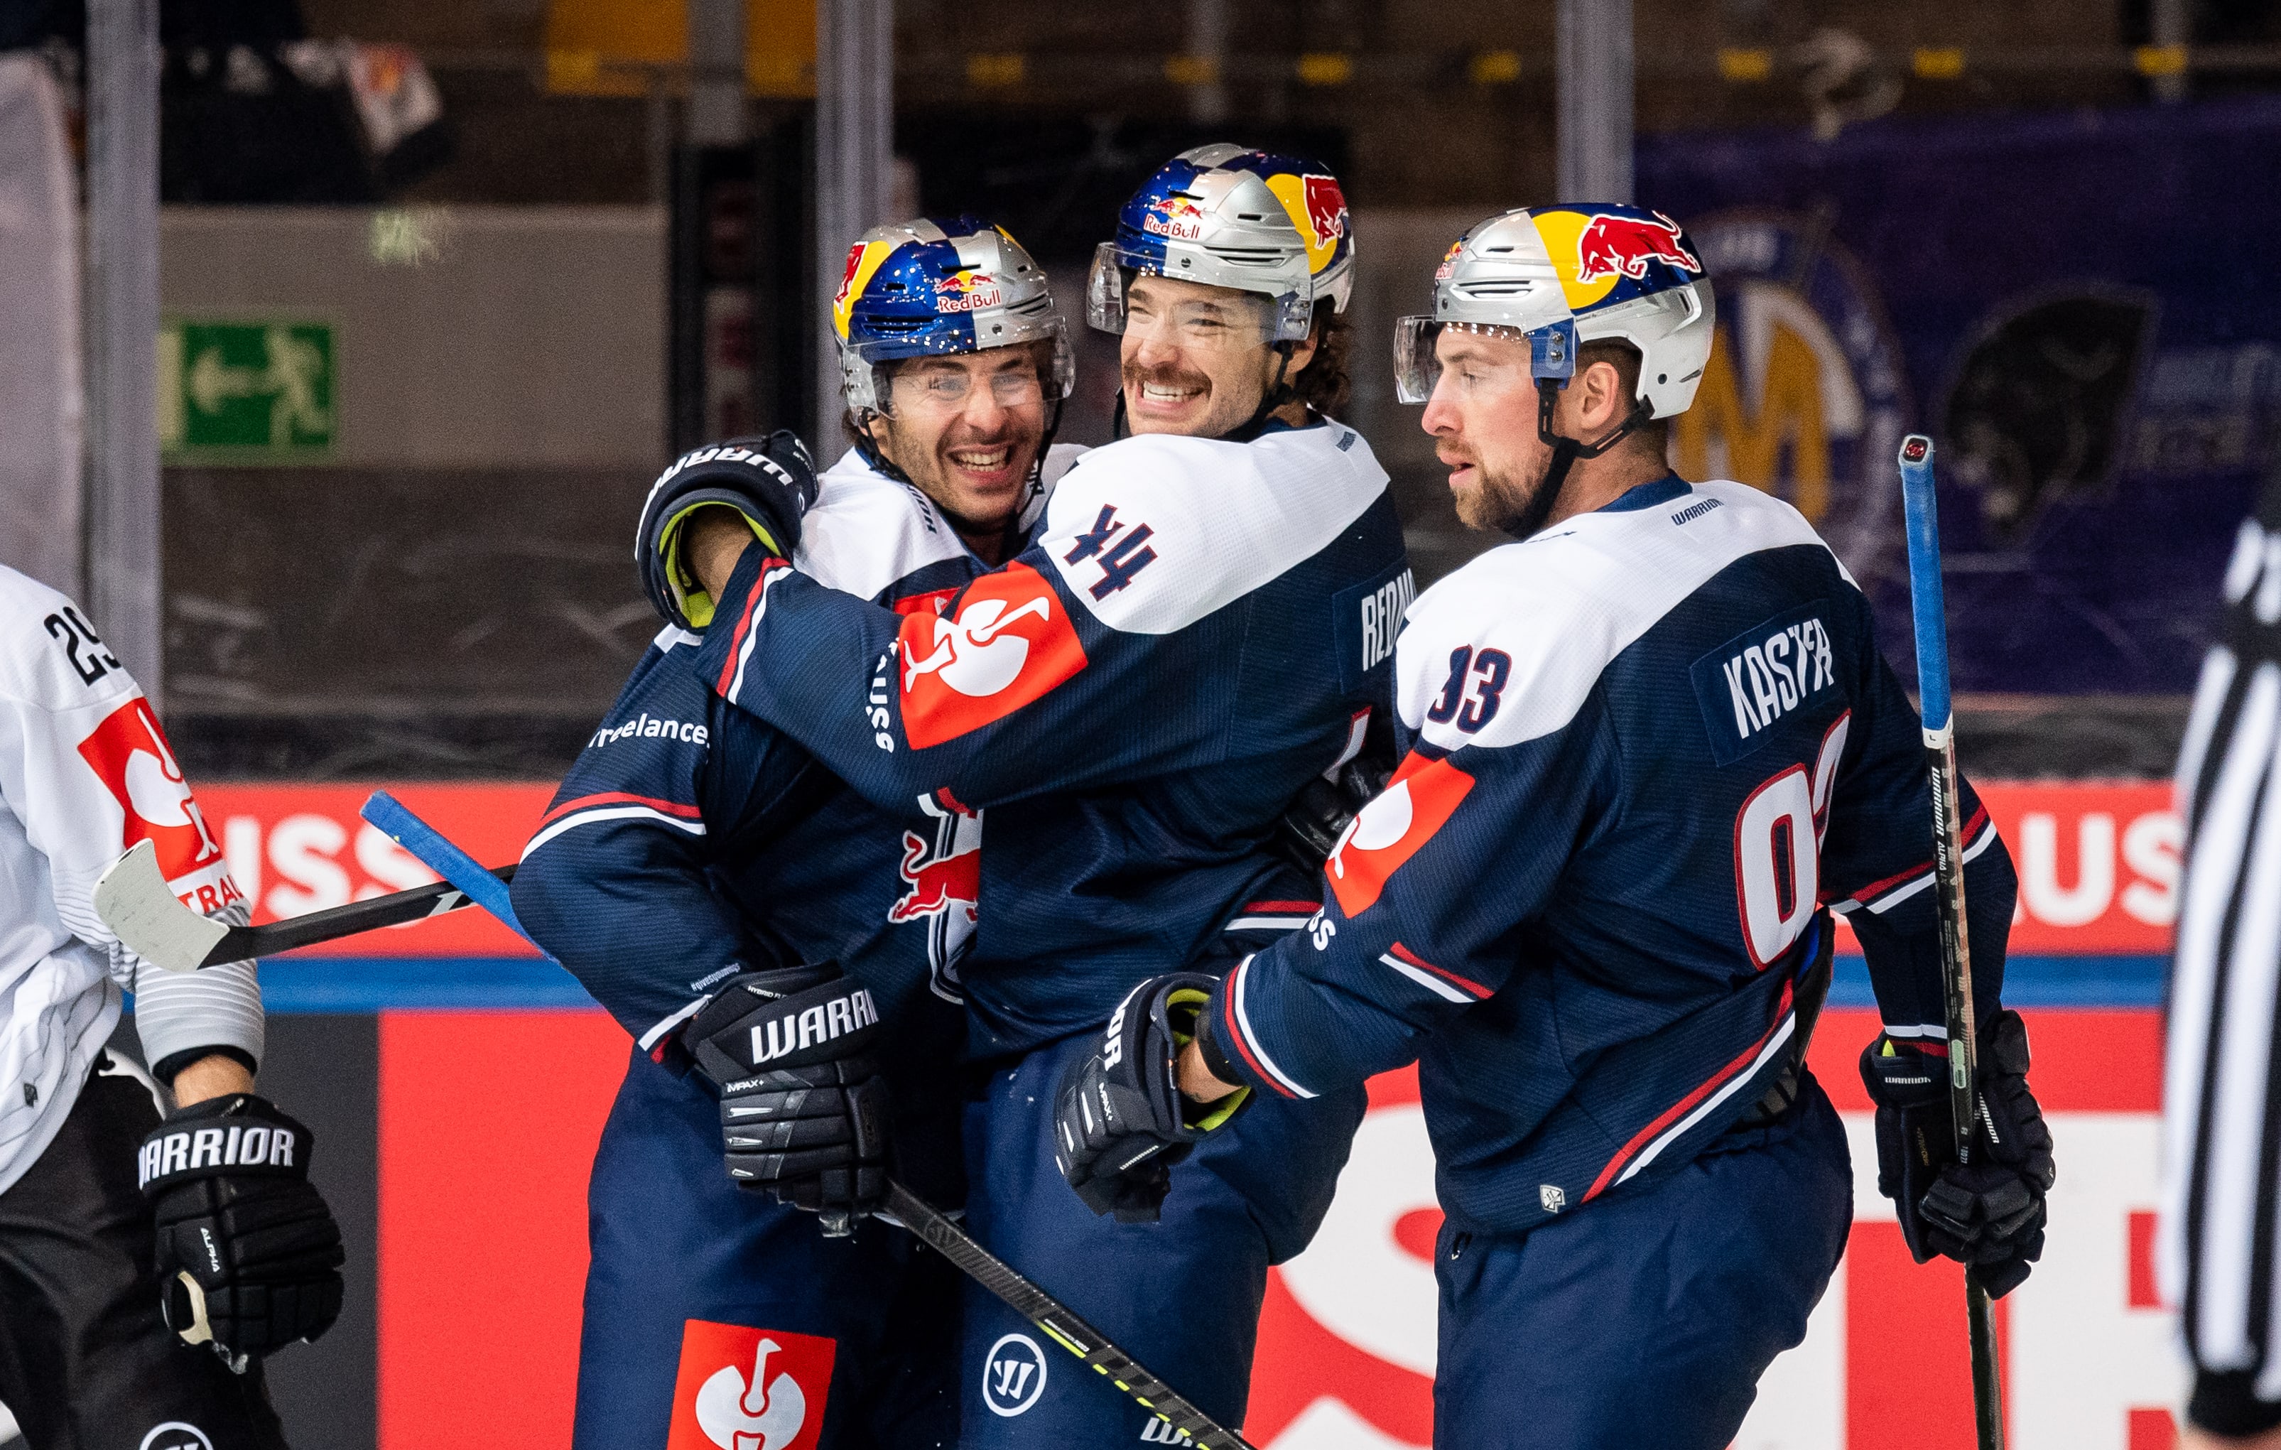
[[(497, 866), (493, 875), (511, 880), (516, 866)], [(340, 937), (440, 917), (472, 905), (452, 882), (433, 882), (413, 887), (411, 891), (374, 896), (372, 901), (324, 907), (322, 912), (308, 912), (290, 921), (271, 921), (269, 926), (226, 926), (182, 905), (173, 887), (167, 885), (167, 873), (157, 864), (157, 848), (151, 841), (137, 841), (132, 850), (105, 866), (103, 875), (96, 878), (94, 901), (96, 917), (103, 919), (103, 926), (112, 928), (114, 937), (125, 942), (128, 951), (167, 971), (196, 971), (198, 967), (219, 967), (221, 962), (274, 958), (294, 946), (338, 942)]]

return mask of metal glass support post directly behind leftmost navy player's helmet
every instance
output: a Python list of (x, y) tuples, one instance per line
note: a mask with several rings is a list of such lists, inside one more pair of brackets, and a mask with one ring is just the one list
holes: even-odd
[[(887, 217), (894, 182), (894, 5), (817, 0), (817, 280), (839, 287), (849, 246)], [(839, 356), (817, 340), (817, 465), (846, 451), (839, 435)]]

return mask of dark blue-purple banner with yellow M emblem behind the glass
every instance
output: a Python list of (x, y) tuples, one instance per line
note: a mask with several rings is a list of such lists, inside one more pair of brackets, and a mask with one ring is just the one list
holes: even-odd
[(1638, 196), (1718, 283), (1681, 472), (1797, 504), (1905, 677), (1923, 429), (1959, 691), (2192, 689), (2281, 467), (2281, 100), (1661, 135)]

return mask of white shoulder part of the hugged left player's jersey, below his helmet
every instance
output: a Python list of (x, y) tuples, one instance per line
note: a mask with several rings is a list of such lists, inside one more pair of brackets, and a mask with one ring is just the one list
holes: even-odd
[[(1038, 522), (1054, 483), (1083, 451), (1074, 442), (1047, 449), (1036, 495), (1022, 508), (1024, 529)], [(828, 588), (876, 600), (922, 568), (967, 552), (933, 499), (917, 486), (878, 472), (855, 449), (823, 470), (817, 483), (817, 502), (801, 518), (794, 565)]]

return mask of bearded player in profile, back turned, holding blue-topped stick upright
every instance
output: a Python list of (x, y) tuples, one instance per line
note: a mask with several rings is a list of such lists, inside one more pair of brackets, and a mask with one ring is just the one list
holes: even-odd
[(2041, 1252), (2051, 1135), (2000, 1008), (2012, 864), (1966, 789), (1984, 1117), (1959, 1170), (1918, 716), (1795, 508), (1663, 463), (1711, 333), (1656, 212), (1508, 212), (1451, 249), (1396, 342), (1403, 397), (1460, 515), (1517, 543), (1410, 609), (1407, 757), (1323, 912), (1209, 985), (1186, 1042), (1113, 1021), (1061, 1094), (1070, 1179), (1099, 1192), (1184, 1142), (1168, 1099), (1307, 1101), (1417, 1060), (1453, 1450), (1731, 1441), (1852, 1220), (1802, 1058), (1832, 912), (1884, 1017), (1861, 1069), (1911, 1249), (1998, 1295)]

